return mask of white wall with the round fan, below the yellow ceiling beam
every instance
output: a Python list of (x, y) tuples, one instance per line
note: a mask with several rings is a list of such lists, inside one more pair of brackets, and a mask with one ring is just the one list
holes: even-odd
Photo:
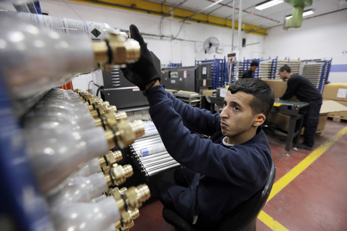
[[(159, 25), (161, 17), (159, 16), (61, 0), (41, 0), (40, 4), (42, 11), (50, 16), (107, 23), (112, 27), (121, 29), (128, 29), (130, 24), (135, 24), (140, 32), (160, 35)], [(181, 24), (178, 20), (163, 18), (161, 33), (162, 35), (176, 36), (180, 26)], [(160, 39), (150, 36), (144, 36), (144, 39), (148, 43), (149, 50), (156, 54), (162, 64), (168, 64), (169, 61), (175, 63), (182, 61), (184, 66), (191, 66), (194, 65), (195, 59), (213, 59), (214, 55), (216, 58), (224, 58), (231, 50), (231, 33), (230, 29), (187, 22), (183, 26), (178, 38), (195, 42)], [(247, 44), (257, 42), (259, 44), (241, 49), (240, 58), (258, 58), (262, 56), (265, 37), (244, 33), (242, 33), (242, 36), (246, 37)], [(205, 54), (203, 42), (209, 37), (218, 38), (220, 47), (224, 49), (222, 54)], [(237, 44), (237, 30), (234, 35), (235, 44)]]

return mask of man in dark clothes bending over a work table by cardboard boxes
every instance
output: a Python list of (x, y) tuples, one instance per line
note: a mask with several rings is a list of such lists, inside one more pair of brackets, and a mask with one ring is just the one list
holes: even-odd
[(319, 123), (319, 110), (322, 105), (322, 95), (306, 77), (291, 73), (290, 67), (284, 65), (279, 71), (283, 80), (288, 79), (286, 92), (280, 99), (289, 99), (295, 95), (300, 101), (308, 102), (309, 109), (304, 119), (304, 140), (298, 148), (313, 150), (314, 135)]

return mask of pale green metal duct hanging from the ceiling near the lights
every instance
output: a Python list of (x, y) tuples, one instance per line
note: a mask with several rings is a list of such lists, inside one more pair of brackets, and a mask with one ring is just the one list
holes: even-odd
[(312, 6), (312, 0), (284, 0), (293, 6), (292, 18), (286, 20), (286, 28), (301, 27), (302, 13), (305, 7)]

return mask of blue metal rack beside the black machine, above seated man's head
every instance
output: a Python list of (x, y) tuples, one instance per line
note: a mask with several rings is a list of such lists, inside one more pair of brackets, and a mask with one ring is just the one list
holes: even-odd
[(207, 64), (211, 65), (212, 72), (212, 89), (217, 87), (224, 87), (228, 85), (228, 65), (230, 63), (224, 59), (210, 59), (210, 60), (195, 60), (195, 65)]

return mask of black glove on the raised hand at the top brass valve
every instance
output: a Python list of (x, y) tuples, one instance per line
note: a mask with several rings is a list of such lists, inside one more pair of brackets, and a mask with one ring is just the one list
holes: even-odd
[(146, 85), (155, 79), (160, 81), (160, 75), (154, 67), (153, 59), (147, 49), (147, 44), (143, 41), (143, 38), (135, 25), (130, 25), (131, 37), (139, 42), (141, 46), (141, 57), (139, 61), (134, 64), (127, 65), (126, 68), (122, 68), (124, 77), (130, 82), (137, 85), (140, 90), (144, 90)]

